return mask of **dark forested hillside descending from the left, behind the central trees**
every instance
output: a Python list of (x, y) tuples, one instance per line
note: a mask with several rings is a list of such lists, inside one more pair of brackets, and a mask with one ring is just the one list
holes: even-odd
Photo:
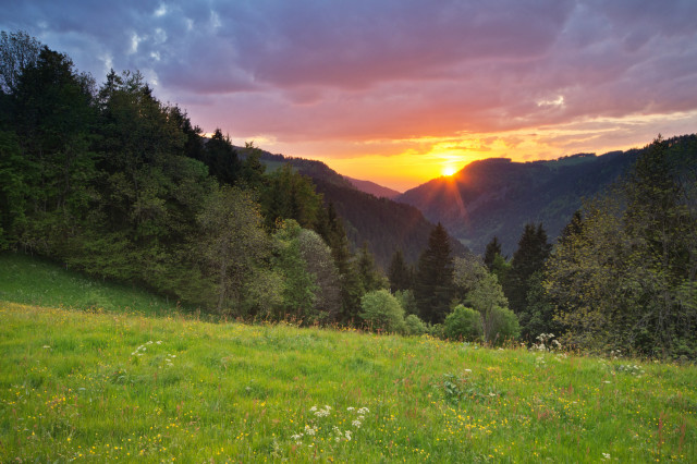
[[(239, 147), (237, 151), (241, 157), (246, 157), (246, 148)], [(317, 192), (323, 195), (325, 203), (331, 203), (343, 219), (353, 248), (357, 249), (367, 242), (368, 249), (383, 270), (387, 270), (396, 249), (402, 251), (407, 261), (418, 260), (435, 224), (424, 218), (417, 208), (360, 192), (321, 161), (272, 155), (264, 150), (259, 159), (269, 171), (291, 163), (299, 173), (310, 178)], [(452, 239), (451, 244), (455, 256), (466, 253), (466, 247), (456, 239)]]

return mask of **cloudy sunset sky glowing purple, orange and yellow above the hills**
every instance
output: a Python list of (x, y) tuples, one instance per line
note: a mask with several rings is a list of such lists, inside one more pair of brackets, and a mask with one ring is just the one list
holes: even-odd
[(405, 191), (476, 159), (697, 132), (694, 0), (0, 0), (103, 83), (233, 143)]

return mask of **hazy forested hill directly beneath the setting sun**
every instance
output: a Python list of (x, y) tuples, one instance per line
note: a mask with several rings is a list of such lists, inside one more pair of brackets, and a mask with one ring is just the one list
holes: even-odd
[[(673, 154), (697, 156), (696, 141), (694, 134), (671, 139)], [(482, 253), (496, 235), (502, 252), (510, 256), (525, 223), (542, 222), (554, 240), (583, 198), (617, 180), (641, 150), (579, 154), (553, 161), (474, 161), (450, 178), (405, 192), (396, 200), (417, 207), (432, 222), (440, 221), (475, 253)]]

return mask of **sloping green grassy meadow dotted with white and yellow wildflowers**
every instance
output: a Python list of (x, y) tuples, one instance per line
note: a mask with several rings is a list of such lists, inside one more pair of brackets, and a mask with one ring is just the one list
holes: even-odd
[(0, 462), (697, 462), (695, 366), (211, 323), (0, 269)]

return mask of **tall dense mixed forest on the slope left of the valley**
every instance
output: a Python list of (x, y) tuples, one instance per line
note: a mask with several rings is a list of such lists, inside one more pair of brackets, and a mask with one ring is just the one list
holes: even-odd
[(138, 72), (97, 85), (24, 33), (0, 48), (0, 248), (224, 316), (365, 323), (387, 279), (308, 176), (204, 137)]

